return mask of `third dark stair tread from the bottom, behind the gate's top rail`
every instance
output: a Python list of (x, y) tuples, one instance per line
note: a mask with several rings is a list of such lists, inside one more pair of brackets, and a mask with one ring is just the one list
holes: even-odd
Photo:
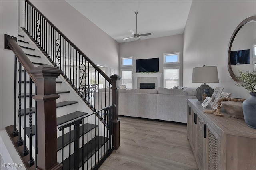
[[(60, 124), (60, 122), (61, 121), (65, 121), (65, 122), (68, 122), (68, 121), (71, 121), (71, 120), (73, 120), (73, 119), (76, 119), (76, 118), (78, 118), (78, 117), (81, 117), (81, 116), (83, 116), (83, 115), (86, 115), (86, 114), (88, 114), (88, 113), (86, 113), (86, 112), (79, 112), (79, 111), (76, 111), (76, 112), (73, 112), (73, 113), (69, 113), (69, 114), (67, 114), (68, 116), (70, 116), (70, 118), (69, 119), (66, 119), (66, 120), (64, 120), (63, 118), (60, 118), (60, 117), (57, 117), (57, 119), (56, 119), (56, 122), (57, 122), (57, 126), (58, 125), (61, 125)], [(75, 116), (74, 116), (75, 115)], [(67, 117), (68, 117), (67, 116)], [(66, 117), (66, 118), (67, 118)], [(65, 123), (64, 122), (64, 123)], [(58, 124), (59, 123), (59, 124)], [(35, 132), (36, 132), (36, 125), (32, 125), (31, 126), (32, 127), (32, 136), (33, 135), (35, 135)], [(87, 126), (86, 126), (87, 127)], [(27, 136), (29, 137), (29, 127), (26, 127), (26, 134), (27, 134)], [(74, 136), (74, 135), (73, 135)], [(60, 139), (61, 140), (61, 139)], [(61, 145), (61, 141), (60, 141), (60, 145)], [(61, 147), (61, 146), (60, 146)]]

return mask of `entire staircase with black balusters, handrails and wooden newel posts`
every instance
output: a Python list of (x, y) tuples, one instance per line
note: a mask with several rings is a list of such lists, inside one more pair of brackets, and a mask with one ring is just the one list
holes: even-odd
[[(43, 17), (40, 12), (31, 9), (37, 10), (24, 1), (29, 22), (24, 24), (27, 29), (18, 28), (18, 43), (5, 35), (5, 49), (18, 59), (14, 63), (14, 125), (6, 131), (26, 169), (97, 169), (119, 147), (120, 77), (106, 76), (52, 23), (37, 19)], [(41, 30), (43, 26), (49, 29)], [(109, 94), (99, 97), (98, 92), (111, 86), (111, 101)]]

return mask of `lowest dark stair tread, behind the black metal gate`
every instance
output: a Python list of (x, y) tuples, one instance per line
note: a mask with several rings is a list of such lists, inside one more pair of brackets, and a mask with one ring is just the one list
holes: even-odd
[[(95, 136), (92, 140), (84, 145), (84, 160), (82, 160), (82, 148), (79, 149), (79, 167), (83, 162), (86, 162), (103, 144), (107, 142), (108, 138), (102, 136)], [(87, 147), (88, 146), (88, 147)], [(87, 150), (88, 149), (88, 150)], [(69, 167), (69, 162), (71, 166)], [(73, 170), (74, 167), (74, 154), (66, 158), (61, 164), (63, 164), (63, 170)]]

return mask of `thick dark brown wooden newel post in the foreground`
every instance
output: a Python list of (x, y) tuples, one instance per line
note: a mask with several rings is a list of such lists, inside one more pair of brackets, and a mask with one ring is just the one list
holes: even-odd
[(56, 123), (56, 78), (60, 69), (50, 65), (41, 65), (30, 71), (36, 78), (37, 95), (37, 136), (39, 170), (60, 170), (57, 162), (57, 123)]

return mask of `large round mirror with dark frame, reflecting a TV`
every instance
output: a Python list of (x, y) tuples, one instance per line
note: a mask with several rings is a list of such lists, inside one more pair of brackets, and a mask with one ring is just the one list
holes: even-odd
[(239, 71), (256, 69), (256, 16), (243, 20), (233, 32), (228, 48), (228, 71), (238, 83), (242, 83)]

